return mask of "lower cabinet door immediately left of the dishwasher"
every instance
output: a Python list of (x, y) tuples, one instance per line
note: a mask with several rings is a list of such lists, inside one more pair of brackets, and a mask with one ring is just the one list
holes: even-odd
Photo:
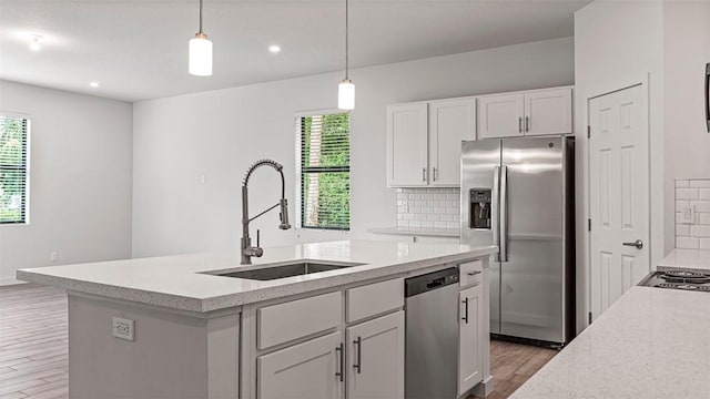
[(404, 311), (346, 329), (347, 399), (404, 398)]

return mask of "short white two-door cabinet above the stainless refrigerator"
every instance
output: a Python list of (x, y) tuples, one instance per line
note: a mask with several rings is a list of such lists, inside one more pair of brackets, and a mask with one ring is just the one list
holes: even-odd
[(571, 133), (571, 88), (478, 98), (478, 139)]

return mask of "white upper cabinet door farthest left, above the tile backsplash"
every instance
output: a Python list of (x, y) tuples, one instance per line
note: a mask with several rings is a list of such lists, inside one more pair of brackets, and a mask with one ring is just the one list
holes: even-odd
[(427, 104), (387, 106), (387, 185), (428, 184)]

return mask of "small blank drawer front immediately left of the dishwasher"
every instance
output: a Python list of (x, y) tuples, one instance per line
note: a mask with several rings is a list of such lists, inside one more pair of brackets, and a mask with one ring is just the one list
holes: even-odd
[(404, 306), (404, 278), (375, 283), (346, 291), (347, 323)]

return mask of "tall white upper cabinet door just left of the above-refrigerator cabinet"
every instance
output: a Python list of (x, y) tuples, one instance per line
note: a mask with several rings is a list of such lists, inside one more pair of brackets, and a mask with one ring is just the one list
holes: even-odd
[(460, 185), (462, 141), (476, 140), (476, 99), (429, 103), (430, 185)]

